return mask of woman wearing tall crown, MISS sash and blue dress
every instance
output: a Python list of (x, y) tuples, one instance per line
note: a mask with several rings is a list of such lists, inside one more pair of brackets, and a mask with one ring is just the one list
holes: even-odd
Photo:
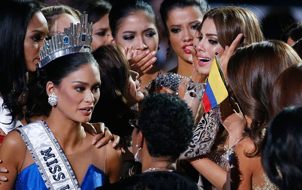
[(0, 155), (9, 180), (0, 189), (94, 189), (117, 181), (121, 149), (112, 148), (113, 142), (96, 148), (94, 136), (82, 127), (101, 85), (86, 19), (84, 14), (64, 35), (43, 40), (41, 60), (28, 84), (27, 109), (48, 117), (6, 135)]

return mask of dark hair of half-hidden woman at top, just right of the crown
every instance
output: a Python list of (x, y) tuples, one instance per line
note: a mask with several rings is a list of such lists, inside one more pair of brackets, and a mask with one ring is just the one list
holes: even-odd
[(111, 9), (111, 4), (103, 0), (74, 0), (70, 6), (80, 12), (86, 11), (88, 22), (92, 23), (96, 23)]

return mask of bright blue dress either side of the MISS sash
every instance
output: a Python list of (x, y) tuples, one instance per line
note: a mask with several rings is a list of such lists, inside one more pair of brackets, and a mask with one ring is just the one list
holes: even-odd
[[(106, 175), (101, 170), (90, 164), (87, 172), (83, 178), (81, 189), (82, 190), (91, 190), (95, 189), (99, 186), (104, 185), (106, 181)], [(40, 189), (47, 190), (46, 185), (40, 175), (38, 166), (36, 163), (26, 167), (23, 169), (17, 176), (16, 190), (24, 190), (24, 189)]]

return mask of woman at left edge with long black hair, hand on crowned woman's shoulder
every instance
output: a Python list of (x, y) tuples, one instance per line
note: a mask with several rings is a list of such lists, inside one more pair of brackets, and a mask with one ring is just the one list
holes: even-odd
[[(12, 7), (13, 11), (10, 9)], [(46, 117), (43, 113), (32, 118), (27, 117), (27, 120), (25, 117), (28, 78), (36, 70), (36, 64), (40, 60), (40, 48), (48, 33), (47, 21), (39, 8), (39, 2), (35, 0), (10, 0), (1, 6), (0, 14), (5, 18), (0, 21), (0, 27), (3, 27), (0, 30), (1, 36), (14, 34), (14, 37), (1, 38), (0, 41), (0, 144), (5, 135), (14, 128)], [(83, 123), (83, 126), (87, 131), (92, 130), (88, 123)], [(99, 142), (105, 144), (112, 138), (103, 124), (98, 123), (95, 129), (99, 132), (95, 141), (101, 138)], [(102, 138), (104, 131), (105, 138)], [(116, 136), (115, 143), (118, 140)]]

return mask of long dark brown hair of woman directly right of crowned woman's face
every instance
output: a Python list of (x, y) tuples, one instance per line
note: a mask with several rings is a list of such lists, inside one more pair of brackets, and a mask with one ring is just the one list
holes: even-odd
[(128, 125), (134, 115), (125, 99), (128, 89), (130, 66), (123, 47), (119, 44), (104, 44), (93, 52), (100, 65), (100, 99), (90, 122), (103, 122), (113, 134), (127, 136), (132, 132)]

